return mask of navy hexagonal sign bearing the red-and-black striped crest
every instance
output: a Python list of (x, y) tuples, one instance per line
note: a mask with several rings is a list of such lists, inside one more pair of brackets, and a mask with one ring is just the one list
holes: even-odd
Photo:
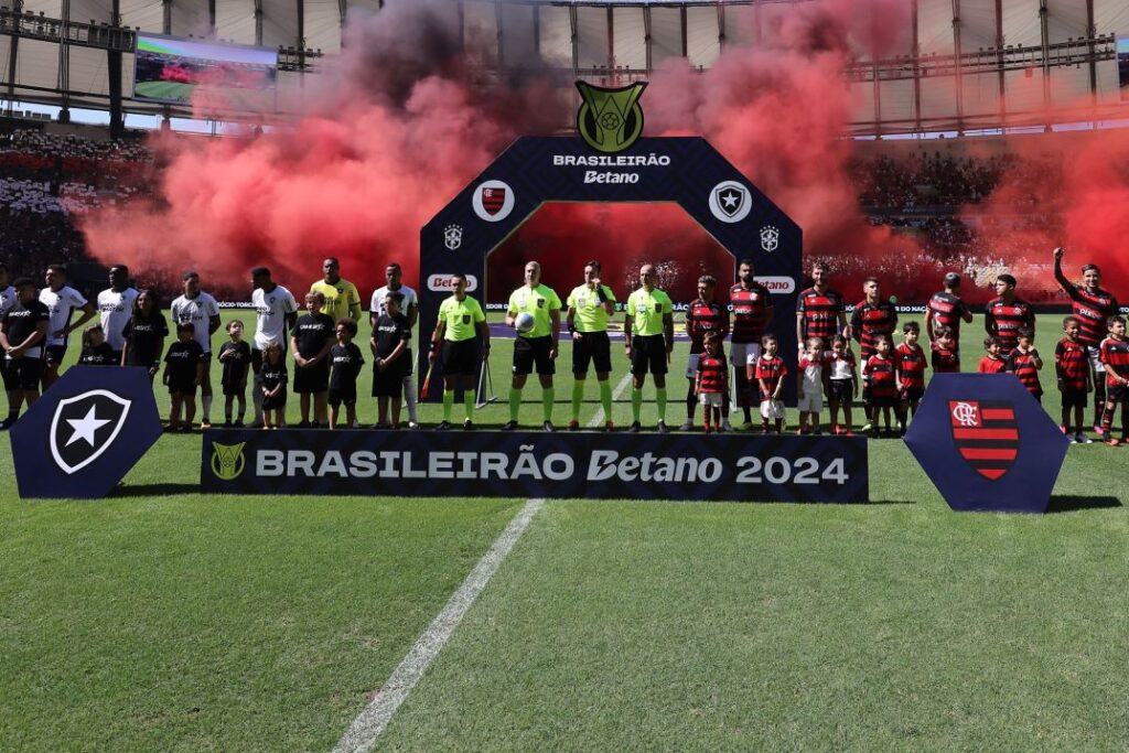
[(1014, 374), (937, 374), (905, 444), (954, 510), (1045, 513), (1070, 441)]

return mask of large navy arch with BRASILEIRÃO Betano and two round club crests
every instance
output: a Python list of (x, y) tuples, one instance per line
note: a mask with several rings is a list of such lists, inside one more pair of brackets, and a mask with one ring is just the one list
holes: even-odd
[[(420, 230), (420, 380), (439, 304), (452, 294), (452, 273), (469, 275), (467, 294), (484, 307), (487, 256), (546, 201), (677, 203), (733, 255), (734, 272), (737, 259), (753, 261), (756, 278), (772, 292), (780, 352), (795, 367), (793, 312), (802, 284), (803, 231), (709, 142), (642, 138), (620, 154), (604, 155), (580, 137), (523, 137)], [(604, 266), (619, 261), (604, 260)], [(728, 288), (721, 282), (719, 294)], [(505, 299), (508, 292), (491, 295)], [(616, 292), (625, 299), (630, 291)], [(440, 370), (436, 366), (432, 384)], [(794, 379), (785, 382), (786, 402), (795, 404), (795, 389)], [(431, 400), (440, 393), (432, 389)]]

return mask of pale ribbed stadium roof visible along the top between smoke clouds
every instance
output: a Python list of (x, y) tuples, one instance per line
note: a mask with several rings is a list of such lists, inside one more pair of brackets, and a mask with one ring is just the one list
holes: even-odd
[[(572, 78), (645, 78), (669, 58), (709, 68), (758, 46), (774, 19), (809, 0), (450, 0), (499, 68), (540, 56)], [(383, 0), (0, 0), (0, 97), (130, 112), (135, 30), (279, 49), (280, 102), (300, 110), (303, 79), (341, 49), (350, 14)], [(1114, 35), (1124, 0), (916, 0), (893, 52), (856, 50), (855, 134), (1124, 117)], [(115, 62), (114, 54), (117, 61)], [(113, 73), (112, 73), (113, 71)], [(116, 79), (116, 80), (115, 80)], [(116, 84), (120, 81), (120, 88)], [(119, 93), (119, 94), (115, 94)], [(1066, 111), (1067, 113), (1071, 111)], [(1056, 116), (1064, 116), (1058, 111)]]

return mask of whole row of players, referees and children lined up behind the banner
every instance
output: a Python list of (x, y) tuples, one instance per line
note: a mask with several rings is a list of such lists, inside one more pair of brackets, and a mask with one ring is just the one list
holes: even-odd
[[(1061, 272), (1062, 255), (1062, 249), (1056, 249), (1054, 272), (1074, 301), (1078, 322), (1076, 340), (1086, 349), (1086, 361), (1094, 374), (1094, 423), (1095, 429), (1100, 429), (1110, 412), (1105, 410), (1106, 404), (1118, 402), (1105, 400), (1104, 386), (1106, 382), (1111, 386), (1120, 386), (1112, 380), (1120, 377), (1097, 378), (1099, 373), (1106, 371), (1110, 362), (1101, 351), (1117, 351), (1115, 344), (1103, 349), (1102, 339), (1106, 321), (1115, 314), (1118, 304), (1111, 294), (1100, 287), (1100, 272), (1094, 265), (1083, 268), (1082, 286), (1069, 282)], [(7, 278), (6, 270), (0, 269), (0, 274)], [(540, 265), (536, 262), (526, 264), (525, 284), (510, 296), (506, 315), (507, 325), (517, 330), (517, 336), (509, 391), (510, 420), (505, 429), (517, 428), (522, 391), (527, 376), (534, 370), (542, 387), (542, 426), (546, 430), (553, 429), (553, 374), (562, 334), (562, 310), (567, 310), (567, 332), (572, 340), (575, 377), (569, 426), (574, 429), (579, 427), (584, 383), (589, 367), (593, 367), (599, 383), (604, 417), (607, 418), (605, 428), (613, 428), (607, 380), (611, 371), (609, 317), (615, 313), (616, 299), (611, 288), (602, 283), (599, 274), (598, 262), (587, 263), (584, 283), (562, 303), (551, 288), (542, 283)], [(924, 386), (925, 358), (916, 343), (917, 333), (905, 332), (907, 341), (893, 348), (898, 315), (894, 306), (882, 299), (876, 279), (869, 279), (864, 284), (865, 298), (854, 307), (848, 322), (843, 297), (830, 287), (829, 269), (816, 264), (811, 274), (812, 286), (799, 294), (796, 308), (796, 336), (800, 343), (796, 362), (800, 431), (820, 430), (819, 413), (824, 394), (831, 403), (833, 430), (850, 431), (850, 403), (858, 393), (856, 362), (848, 347), (851, 338), (861, 351), (858, 362), (863, 365), (863, 404), (869, 424), (864, 428), (876, 428), (874, 409), (878, 408), (883, 409), (889, 430), (891, 406), (904, 428), (907, 415), (916, 406)], [(387, 284), (374, 292), (369, 314), (373, 327), (369, 349), (375, 358), (373, 392), (378, 399), (378, 426), (399, 426), (401, 400), (404, 399), (409, 426), (414, 427), (418, 426), (418, 401), (412, 374), (411, 329), (419, 310), (418, 299), (414, 291), (402, 283), (399, 265), (386, 268), (386, 280)], [(624, 306), (624, 348), (632, 375), (633, 421), (630, 430), (641, 429), (642, 387), (647, 374), (651, 374), (658, 409), (657, 430), (666, 431), (666, 373), (674, 347), (674, 306), (669, 297), (656, 287), (657, 275), (651, 265), (642, 266), (639, 280), (639, 289), (629, 296)], [(12, 288), (6, 287), (7, 279), (0, 279), (0, 305), (3, 306), (0, 309), (3, 314), (0, 319), (0, 347), (6, 352), (3, 375), (10, 406), (6, 426), (15, 420), (24, 401), (30, 403), (35, 400), (41, 383), (46, 387), (58, 378), (68, 335), (99, 312), (102, 324), (87, 327), (84, 333), (80, 362), (141, 365), (150, 369), (150, 376), (156, 376), (164, 336), (168, 332), (156, 296), (151, 291), (129, 287), (129, 271), (121, 265), (111, 269), (110, 281), (111, 288), (98, 295), (95, 309), (65, 286), (65, 270), (58, 265), (49, 268), (46, 287), (41, 291), (30, 280), (17, 281), (18, 284)], [(947, 274), (945, 289), (929, 301), (925, 325), (931, 341), (931, 361), (937, 370), (959, 368), (960, 324), (972, 319), (971, 312), (960, 298), (960, 282), (959, 275)], [(200, 289), (199, 275), (185, 273), (183, 283), (184, 295), (170, 306), (178, 329), (177, 342), (164, 359), (164, 382), (174, 395), (174, 428), (191, 424), (192, 415), (187, 413), (194, 412), (196, 386), (202, 396), (202, 426), (211, 423), (212, 391), (210, 369), (205, 365), (211, 356), (211, 335), (220, 325), (219, 307), (211, 296)], [(360, 298), (356, 287), (341, 279), (338, 261), (324, 261), (323, 279), (312, 286), (306, 297), (309, 314), (301, 318), (298, 317), (294, 296), (273, 282), (269, 270), (253, 270), (252, 284), (256, 309), (254, 347), (242, 342), (242, 324), (233, 322), (228, 327), (231, 340), (219, 349), (225, 373), (227, 423), (243, 422), (250, 366), (254, 374), (254, 424), (279, 424), (280, 401), (285, 402), (289, 380), (282, 348), (287, 343), (287, 333), (291, 333), (294, 391), (301, 401), (301, 423), (339, 426), (339, 410), (344, 405), (345, 426), (356, 426), (356, 379), (364, 361), (352, 339), (357, 334), (357, 319), (361, 313)], [(462, 386), (464, 392), (466, 415), (463, 424), (465, 428), (473, 427), (475, 379), (481, 360), (489, 357), (490, 333), (482, 307), (466, 295), (465, 287), (466, 280), (454, 275), (452, 288), (455, 292), (443, 301), (438, 325), (431, 336), (428, 360), (431, 366), (440, 365), (444, 383), (444, 419), (439, 429), (452, 428), (457, 386)], [(1014, 366), (1021, 379), (1029, 384), (1029, 371), (1032, 369), (1024, 365), (1038, 361), (1038, 353), (1032, 359), (1018, 335), (1025, 329), (1032, 330), (1033, 335), (1034, 315), (1031, 306), (1015, 295), (1015, 288), (1014, 278), (999, 275), (996, 281), (998, 297), (986, 307), (986, 329), (990, 336), (998, 339), (1000, 362), (1008, 364), (1009, 368)], [(751, 411), (758, 404), (762, 428), (770, 430), (770, 421), (779, 427), (782, 419), (779, 397), (784, 377), (789, 371), (777, 353), (774, 336), (769, 332), (773, 323), (771, 294), (755, 280), (752, 262), (742, 261), (738, 264), (737, 282), (728, 290), (728, 306), (718, 299), (717, 281), (710, 275), (703, 275), (698, 281), (698, 294), (685, 314), (691, 358), (686, 369), (688, 420), (680, 428), (688, 430), (693, 427), (694, 408), (699, 402), (704, 405), (707, 430), (733, 428), (728, 420), (729, 364), (733, 366), (732, 392), (744, 413), (742, 428), (752, 428)], [(46, 309), (45, 316), (42, 310), (33, 314), (36, 308), (34, 303)], [(76, 309), (81, 315), (72, 322), (71, 314)], [(43, 321), (40, 322), (40, 318)], [(726, 336), (732, 341), (728, 358), (720, 348), (720, 341)], [(1117, 340), (1115, 336), (1111, 339)], [(190, 342), (196, 347), (191, 347)], [(1019, 351), (1018, 358), (1014, 351)], [(1056, 366), (1060, 368), (1058, 360)], [(1115, 371), (1110, 369), (1109, 373)], [(1061, 370), (1059, 377), (1061, 384)], [(1034, 382), (1038, 384), (1038, 374)], [(848, 389), (844, 385), (851, 386)], [(889, 385), (893, 386), (893, 394), (890, 394)], [(235, 415), (233, 404), (238, 406)], [(181, 409), (186, 413), (183, 419), (180, 417)], [(846, 411), (842, 427), (837, 420), (840, 409)], [(1068, 421), (1064, 417), (1066, 423)], [(1080, 432), (1079, 423), (1080, 420), (1075, 421)]]

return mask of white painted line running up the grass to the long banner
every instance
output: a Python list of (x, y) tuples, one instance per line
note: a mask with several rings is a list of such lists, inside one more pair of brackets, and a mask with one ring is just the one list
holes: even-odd
[(452, 633), (455, 632), (455, 628), (458, 627), (479, 594), (497, 572), (498, 566), (525, 533), (533, 516), (537, 514), (544, 501), (543, 499), (531, 499), (514, 516), (506, 529), (495, 540), (490, 551), (479, 560), (471, 573), (466, 576), (463, 585), (452, 594), (447, 605), (415, 640), (408, 655), (393, 671), (392, 676), (377, 691), (376, 698), (349, 725), (349, 729), (338, 741), (333, 753), (365, 753), (373, 747), (387, 728), (400, 704), (404, 702), (423, 673), (431, 666), (431, 662), (443, 650)]

